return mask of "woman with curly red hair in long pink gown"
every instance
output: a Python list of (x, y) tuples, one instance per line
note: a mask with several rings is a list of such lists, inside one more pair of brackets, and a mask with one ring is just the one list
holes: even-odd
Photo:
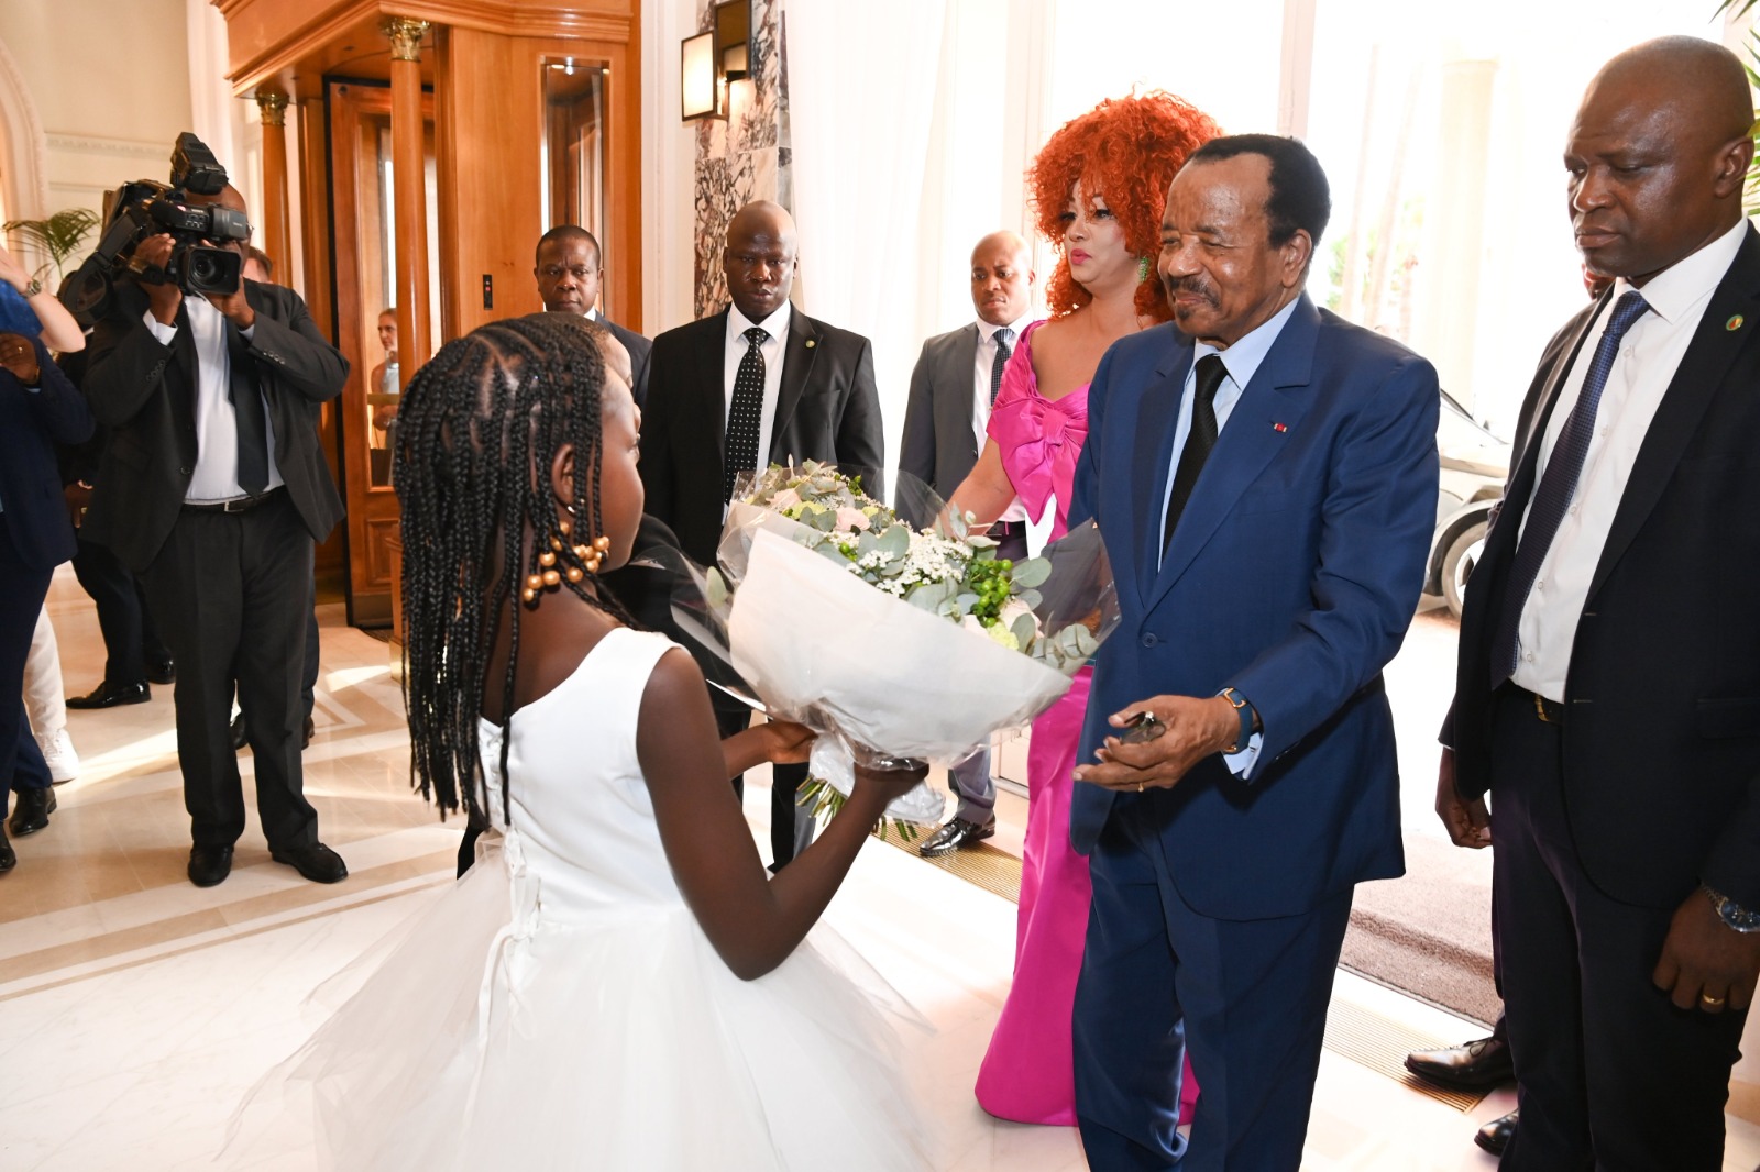
[[(1058, 250), (1045, 285), (1051, 320), (1021, 331), (977, 468), (954, 505), (993, 523), (1019, 496), (1035, 521), (1052, 502), (1052, 540), (1068, 528), (1070, 486), (1088, 438), (1088, 384), (1119, 338), (1172, 317), (1155, 255), (1162, 206), (1186, 155), (1221, 134), (1181, 99), (1151, 92), (1102, 102), (1063, 125), (1028, 174), (1038, 231)], [(1075, 744), (1089, 670), (1033, 722), (1014, 985), (979, 1068), (979, 1105), (1021, 1123), (1075, 1124), (1070, 1017), (1088, 934), (1088, 859), (1070, 848)], [(1183, 1082), (1181, 1117), (1197, 1084)]]

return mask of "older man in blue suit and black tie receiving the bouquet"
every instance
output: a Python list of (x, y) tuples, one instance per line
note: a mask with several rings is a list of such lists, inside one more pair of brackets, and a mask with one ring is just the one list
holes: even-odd
[(1123, 611), (1070, 813), (1095, 1168), (1295, 1168), (1352, 890), (1404, 869), (1382, 667), (1424, 584), (1436, 371), (1302, 292), (1329, 211), (1294, 139), (1193, 151), (1162, 223), (1177, 329), (1118, 341), (1089, 391), (1070, 516)]

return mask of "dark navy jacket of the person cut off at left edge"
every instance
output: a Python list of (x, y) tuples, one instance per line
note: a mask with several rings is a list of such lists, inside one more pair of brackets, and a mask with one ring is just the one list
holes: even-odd
[(23, 565), (53, 570), (74, 556), (56, 445), (88, 440), (92, 412), (42, 341), (32, 345), (42, 371), (35, 391), (0, 370), (0, 540), (12, 542)]

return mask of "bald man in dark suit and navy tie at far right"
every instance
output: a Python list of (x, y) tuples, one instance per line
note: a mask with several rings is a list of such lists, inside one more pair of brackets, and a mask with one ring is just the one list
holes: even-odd
[(1461, 616), (1436, 806), (1496, 846), (1505, 1168), (1723, 1167), (1760, 973), (1760, 236), (1741, 60), (1589, 83), (1570, 216), (1617, 278), (1554, 338)]

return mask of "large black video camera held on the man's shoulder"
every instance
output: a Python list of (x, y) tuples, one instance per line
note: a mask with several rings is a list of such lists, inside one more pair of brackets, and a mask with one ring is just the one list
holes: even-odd
[[(188, 296), (238, 292), (245, 257), (215, 245), (248, 241), (250, 220), (220, 204), (185, 202), (188, 195), (218, 195), (225, 181), (213, 151), (188, 130), (180, 134), (171, 150), (171, 183), (136, 179), (104, 194), (104, 238), (62, 287), (62, 304), (92, 326), (109, 310), (116, 280), (169, 282)], [(160, 232), (176, 241), (165, 266), (130, 264), (139, 243)]]

